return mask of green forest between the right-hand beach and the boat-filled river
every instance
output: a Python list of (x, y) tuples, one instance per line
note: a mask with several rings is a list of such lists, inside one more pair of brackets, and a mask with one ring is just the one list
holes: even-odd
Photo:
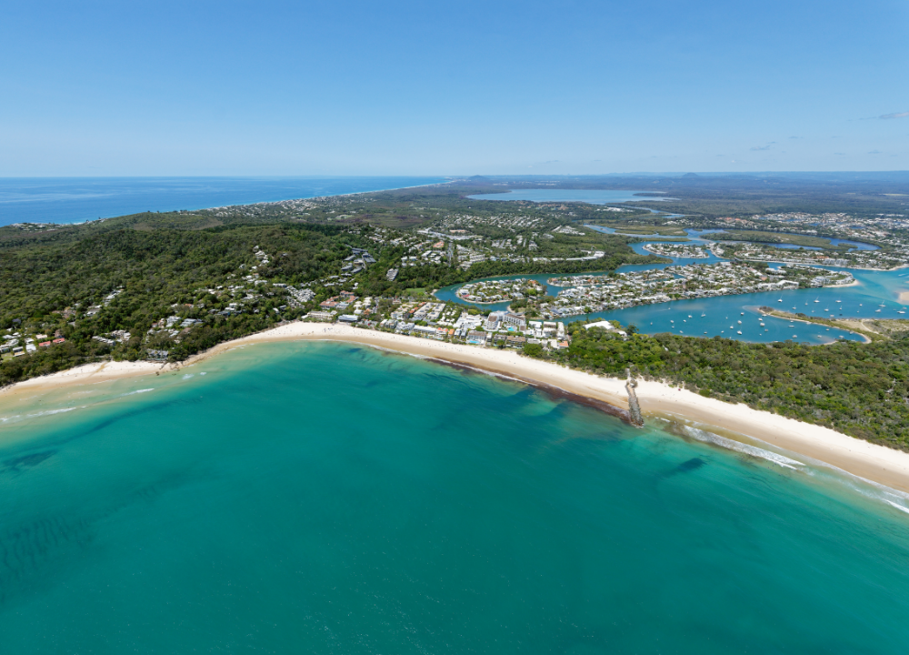
[(816, 347), (671, 334), (622, 339), (579, 324), (570, 330), (569, 348), (547, 354), (528, 347), (528, 354), (599, 375), (624, 377), (631, 368), (636, 376), (668, 380), (703, 396), (909, 450), (909, 337), (904, 335)]

